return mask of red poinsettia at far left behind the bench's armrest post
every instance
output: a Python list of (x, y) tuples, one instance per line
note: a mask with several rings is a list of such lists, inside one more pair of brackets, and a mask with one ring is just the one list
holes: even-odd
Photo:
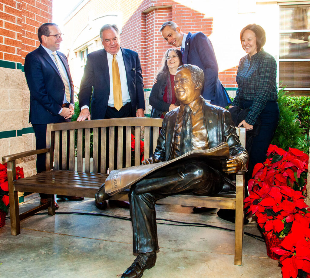
[[(16, 178), (20, 179), (24, 177), (23, 168), (16, 167)], [(9, 210), (9, 187), (7, 183), (7, 163), (0, 163), (0, 210), (6, 214)]]

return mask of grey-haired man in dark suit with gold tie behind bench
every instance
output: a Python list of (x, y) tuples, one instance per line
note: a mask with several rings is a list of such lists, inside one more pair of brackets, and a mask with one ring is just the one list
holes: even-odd
[[(87, 56), (78, 95), (81, 112), (77, 121), (144, 117), (143, 77), (138, 53), (120, 47), (116, 25), (102, 26), (100, 38), (104, 49)], [(129, 207), (126, 201), (110, 200), (109, 203)], [(95, 204), (100, 209), (107, 206), (106, 201)]]

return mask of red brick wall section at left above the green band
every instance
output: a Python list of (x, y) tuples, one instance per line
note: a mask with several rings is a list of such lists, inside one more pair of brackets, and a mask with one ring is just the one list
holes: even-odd
[(38, 27), (52, 20), (52, 0), (2, 0), (0, 18), (0, 60), (24, 64), (39, 46)]

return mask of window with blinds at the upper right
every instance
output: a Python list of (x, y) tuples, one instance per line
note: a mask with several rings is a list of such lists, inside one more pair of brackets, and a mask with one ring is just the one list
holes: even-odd
[(280, 6), (279, 82), (310, 96), (310, 5)]

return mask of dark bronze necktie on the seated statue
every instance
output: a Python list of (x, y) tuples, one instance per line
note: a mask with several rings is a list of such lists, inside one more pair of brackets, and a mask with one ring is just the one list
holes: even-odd
[(188, 153), (192, 150), (192, 110), (186, 105), (184, 107), (183, 113), (183, 123), (181, 129), (181, 138), (180, 138), (180, 153), (181, 156), (184, 153)]

